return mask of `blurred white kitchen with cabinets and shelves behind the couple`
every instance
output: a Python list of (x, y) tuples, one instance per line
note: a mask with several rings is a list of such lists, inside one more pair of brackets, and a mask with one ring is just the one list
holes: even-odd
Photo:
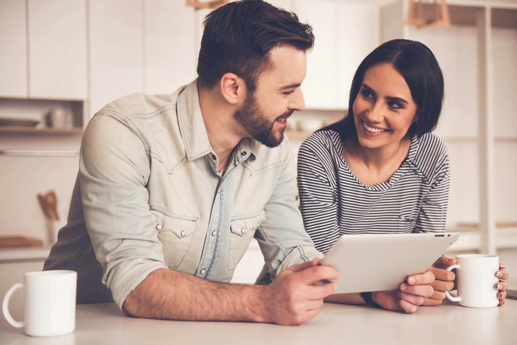
[[(23, 272), (41, 270), (67, 217), (81, 135), (95, 112), (134, 92), (172, 93), (196, 77), (210, 9), (186, 3), (0, 0), (0, 295)], [(517, 0), (270, 3), (308, 21), (316, 37), (302, 85), (306, 109), (286, 131), (295, 152), (346, 114), (353, 74), (377, 45), (407, 38), (429, 46), (446, 82), (435, 134), (450, 154), (447, 231), (462, 232), (446, 255), (497, 253), (516, 289)], [(233, 281), (253, 283), (262, 264), (253, 241)]]

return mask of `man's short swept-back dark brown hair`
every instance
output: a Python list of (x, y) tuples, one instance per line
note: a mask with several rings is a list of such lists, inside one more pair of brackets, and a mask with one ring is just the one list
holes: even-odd
[(250, 92), (270, 64), (268, 53), (279, 44), (303, 51), (314, 45), (309, 24), (296, 14), (262, 0), (232, 2), (210, 12), (204, 22), (197, 74), (204, 87), (215, 86), (224, 73), (241, 77)]

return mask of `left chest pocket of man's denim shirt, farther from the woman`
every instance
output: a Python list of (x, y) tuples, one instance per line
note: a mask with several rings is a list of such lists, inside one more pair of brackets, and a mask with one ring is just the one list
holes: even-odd
[(151, 211), (156, 216), (156, 230), (162, 243), (165, 265), (176, 268), (187, 255), (197, 218), (174, 215), (155, 207)]

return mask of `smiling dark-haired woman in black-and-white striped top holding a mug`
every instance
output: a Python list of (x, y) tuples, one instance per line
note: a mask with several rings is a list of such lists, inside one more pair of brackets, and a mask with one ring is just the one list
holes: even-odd
[[(326, 254), (342, 234), (445, 231), (448, 154), (431, 134), (443, 98), (442, 71), (424, 44), (392, 40), (364, 58), (348, 116), (311, 135), (298, 153), (300, 210), (316, 249)], [(440, 304), (452, 290), (454, 274), (439, 268), (454, 263), (442, 257), (433, 264), (432, 289), (409, 277), (397, 292), (336, 294), (326, 301), (414, 312)], [(495, 274), (507, 279), (500, 269)], [(260, 284), (269, 281), (266, 273)], [(499, 305), (507, 287), (504, 281), (495, 287)]]

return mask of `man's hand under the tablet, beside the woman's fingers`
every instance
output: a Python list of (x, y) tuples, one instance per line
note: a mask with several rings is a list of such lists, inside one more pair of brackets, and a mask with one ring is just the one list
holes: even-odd
[(400, 291), (372, 292), (372, 300), (387, 310), (414, 313), (424, 299), (433, 294), (434, 290), (430, 285), (433, 281), (434, 275), (429, 271), (412, 275), (407, 277), (407, 283), (400, 285)]

